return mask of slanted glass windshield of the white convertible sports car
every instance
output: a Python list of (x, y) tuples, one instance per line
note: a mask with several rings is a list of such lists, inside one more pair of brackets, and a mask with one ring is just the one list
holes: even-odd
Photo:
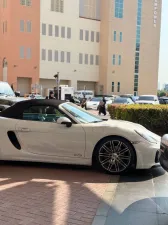
[(94, 116), (72, 103), (63, 103), (61, 107), (70, 113), (80, 123), (100, 123), (103, 122), (99, 117)]

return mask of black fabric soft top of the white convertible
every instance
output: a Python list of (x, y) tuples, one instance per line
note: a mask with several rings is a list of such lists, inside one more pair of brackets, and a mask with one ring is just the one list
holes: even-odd
[(2, 111), (0, 116), (11, 119), (21, 119), (23, 112), (31, 106), (53, 106), (58, 108), (62, 103), (65, 103), (65, 101), (55, 99), (32, 99), (21, 101)]

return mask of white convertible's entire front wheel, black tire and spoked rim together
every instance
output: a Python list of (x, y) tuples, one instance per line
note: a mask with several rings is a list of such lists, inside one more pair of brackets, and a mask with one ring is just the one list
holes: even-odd
[(93, 153), (93, 166), (110, 174), (123, 174), (135, 167), (135, 163), (133, 146), (122, 137), (103, 139)]

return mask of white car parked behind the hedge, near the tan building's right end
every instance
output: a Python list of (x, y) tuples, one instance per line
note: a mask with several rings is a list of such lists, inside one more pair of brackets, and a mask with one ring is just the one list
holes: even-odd
[(139, 99), (136, 101), (137, 104), (151, 104), (158, 105), (159, 99), (156, 95), (140, 95)]

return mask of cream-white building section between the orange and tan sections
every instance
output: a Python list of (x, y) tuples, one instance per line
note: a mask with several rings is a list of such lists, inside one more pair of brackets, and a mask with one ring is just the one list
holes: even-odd
[(75, 90), (96, 88), (100, 21), (80, 18), (79, 8), (79, 0), (41, 0), (40, 84), (43, 89), (54, 87), (53, 76), (57, 72), (60, 84), (73, 86)]

